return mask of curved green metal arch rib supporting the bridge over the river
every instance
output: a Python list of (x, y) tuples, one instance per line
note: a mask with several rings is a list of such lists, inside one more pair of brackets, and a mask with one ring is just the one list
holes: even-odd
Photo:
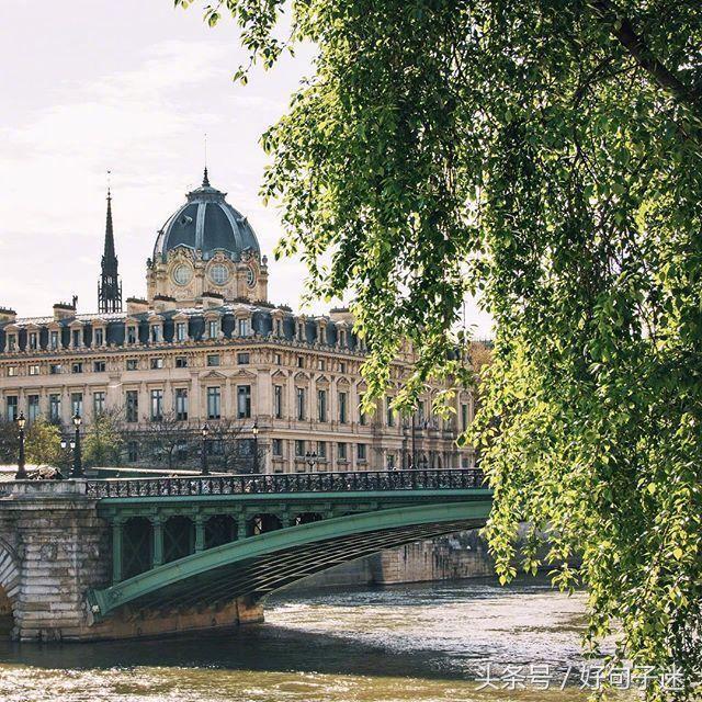
[[(201, 551), (112, 587), (90, 590), (88, 600), (97, 619), (124, 605), (171, 609), (226, 602), (244, 596), (260, 600), (295, 580), (340, 563), (485, 523), (491, 507), (489, 490), (473, 489), (469, 497), (442, 492), (430, 500), (424, 492), (421, 505), (335, 517)], [(250, 500), (252, 496), (247, 497)], [(280, 497), (275, 496), (278, 500)], [(349, 495), (343, 497), (349, 499)], [(383, 495), (383, 498), (387, 497), (387, 494)], [(212, 498), (210, 496), (207, 501)], [(364, 498), (372, 499), (370, 495)], [(450, 501), (456, 498), (460, 501)], [(178, 498), (163, 498), (173, 499)], [(104, 502), (111, 502), (110, 511), (117, 507), (116, 500)], [(122, 502), (121, 507), (127, 506)]]

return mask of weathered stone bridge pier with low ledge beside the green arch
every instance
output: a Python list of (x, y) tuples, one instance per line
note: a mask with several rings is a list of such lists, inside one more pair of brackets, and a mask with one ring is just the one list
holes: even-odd
[(0, 635), (14, 641), (128, 638), (262, 620), (245, 598), (168, 611), (122, 608), (97, 621), (90, 589), (111, 584), (109, 524), (83, 480), (0, 487)]

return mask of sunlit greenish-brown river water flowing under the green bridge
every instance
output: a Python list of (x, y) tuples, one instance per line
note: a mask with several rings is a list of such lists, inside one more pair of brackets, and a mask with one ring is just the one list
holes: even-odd
[[(296, 591), (269, 601), (265, 624), (236, 632), (2, 643), (0, 700), (579, 701), (584, 605), (582, 593), (568, 598), (545, 580)], [(535, 689), (545, 679), (550, 689)]]

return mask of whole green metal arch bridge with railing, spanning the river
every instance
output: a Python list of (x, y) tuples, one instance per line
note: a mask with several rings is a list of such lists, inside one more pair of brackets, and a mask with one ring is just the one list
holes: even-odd
[(383, 548), (482, 526), (477, 469), (89, 480), (112, 531), (112, 585), (90, 589), (97, 621), (118, 608), (261, 601), (295, 580)]

